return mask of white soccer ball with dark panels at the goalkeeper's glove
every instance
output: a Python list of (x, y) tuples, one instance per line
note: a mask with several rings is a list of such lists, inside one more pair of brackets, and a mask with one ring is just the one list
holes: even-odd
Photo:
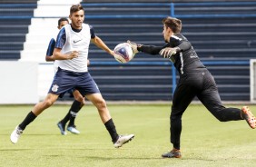
[(133, 49), (130, 44), (122, 43), (117, 44), (114, 49), (114, 58), (117, 62), (125, 64), (133, 59)]

